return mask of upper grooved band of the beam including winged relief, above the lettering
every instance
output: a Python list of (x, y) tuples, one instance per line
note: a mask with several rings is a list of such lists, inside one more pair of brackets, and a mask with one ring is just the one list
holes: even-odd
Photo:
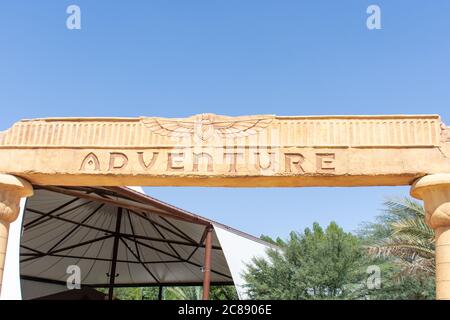
[[(292, 147), (413, 147), (439, 145), (438, 115), (244, 116), (200, 114), (188, 118), (48, 118), (22, 120), (0, 133), (1, 147), (164, 147), (180, 138), (217, 132), (237, 138), (276, 130)], [(269, 130), (270, 131), (270, 130)]]

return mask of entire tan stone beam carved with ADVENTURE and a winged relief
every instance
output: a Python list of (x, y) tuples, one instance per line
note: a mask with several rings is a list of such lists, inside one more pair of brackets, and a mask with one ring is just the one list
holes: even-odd
[(405, 185), (450, 172), (437, 115), (23, 120), (0, 172), (50, 185)]

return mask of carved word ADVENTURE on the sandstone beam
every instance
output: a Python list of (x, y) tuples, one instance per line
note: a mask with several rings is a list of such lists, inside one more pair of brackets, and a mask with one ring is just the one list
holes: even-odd
[[(162, 153), (162, 156), (159, 155)], [(101, 156), (100, 156), (101, 154)], [(223, 153), (224, 159), (216, 161), (212, 154), (207, 152), (186, 154), (179, 151), (128, 151), (128, 152), (89, 152), (81, 161), (80, 172), (125, 172), (142, 171), (150, 172), (214, 172), (220, 166), (228, 173), (237, 174), (239, 172), (253, 172), (265, 174), (277, 173), (278, 163), (275, 161), (275, 152), (254, 152), (253, 160), (241, 165), (239, 159), (244, 158), (244, 152)], [(250, 158), (250, 155), (246, 155)], [(263, 160), (263, 157), (265, 159)], [(285, 173), (305, 173), (305, 172), (334, 172), (335, 153), (315, 152), (316, 165), (305, 170), (307, 161), (300, 152), (284, 152), (283, 172)], [(148, 159), (148, 160), (146, 160)], [(159, 160), (158, 160), (159, 159)], [(190, 159), (189, 161), (187, 159)], [(158, 161), (158, 163), (157, 163)], [(202, 164), (205, 164), (202, 166)], [(246, 166), (247, 164), (248, 166)], [(225, 168), (222, 168), (225, 165)], [(130, 168), (133, 166), (133, 168)], [(254, 166), (254, 168), (252, 168)]]

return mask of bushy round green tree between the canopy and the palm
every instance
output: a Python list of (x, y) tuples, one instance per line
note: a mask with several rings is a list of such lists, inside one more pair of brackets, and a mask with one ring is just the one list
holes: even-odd
[(287, 241), (271, 242), (280, 250), (269, 250), (268, 260), (253, 259), (244, 275), (252, 299), (352, 299), (364, 294), (359, 239), (336, 223), (325, 231), (315, 223), (312, 230), (291, 232)]

